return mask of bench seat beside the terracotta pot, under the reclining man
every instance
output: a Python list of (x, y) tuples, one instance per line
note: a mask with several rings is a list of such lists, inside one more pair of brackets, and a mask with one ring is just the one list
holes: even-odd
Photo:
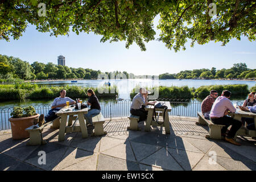
[(57, 128), (58, 126), (60, 126), (60, 117), (57, 117), (53, 121), (47, 122), (40, 127), (38, 126), (38, 124), (36, 124), (25, 129), (26, 131), (28, 131), (28, 133), (30, 133), (30, 139), (28, 140), (27, 145), (35, 146), (40, 144), (46, 144), (46, 140), (43, 140), (42, 133), (44, 127), (48, 126), (49, 124), (53, 124), (54, 128)]

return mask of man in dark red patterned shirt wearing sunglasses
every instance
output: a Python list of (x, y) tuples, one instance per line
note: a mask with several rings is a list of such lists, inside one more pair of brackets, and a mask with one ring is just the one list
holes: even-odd
[(216, 90), (210, 90), (210, 95), (205, 97), (205, 99), (202, 102), (201, 110), (204, 114), (205, 119), (210, 119), (209, 114), (210, 110), (212, 109), (212, 105), (216, 98), (218, 97), (218, 92)]

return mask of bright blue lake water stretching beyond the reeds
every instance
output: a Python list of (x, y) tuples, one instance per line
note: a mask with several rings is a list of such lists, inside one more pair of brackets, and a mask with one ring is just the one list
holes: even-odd
[[(189, 88), (199, 88), (202, 85), (233, 85), (233, 84), (247, 84), (250, 89), (256, 84), (256, 81), (240, 81), (240, 80), (151, 80), (151, 79), (123, 79), (123, 80), (78, 80), (76, 83), (71, 81), (45, 81), (36, 82), (36, 84), (42, 84), (46, 86), (64, 86), (64, 85), (77, 85), (83, 87), (96, 88), (104, 85), (105, 82), (110, 82), (111, 85), (116, 85), (118, 88), (118, 97), (124, 100), (130, 100), (130, 92), (135, 86), (147, 86), (148, 88), (153, 86), (188, 86)], [(68, 97), (68, 93), (67, 93)], [(245, 96), (246, 97), (246, 96)], [(241, 100), (236, 101), (243, 101)], [(16, 100), (5, 101), (0, 103), (0, 108), (13, 107), (16, 105), (41, 105), (51, 104), (53, 100)], [(101, 100), (102, 102), (104, 100)]]

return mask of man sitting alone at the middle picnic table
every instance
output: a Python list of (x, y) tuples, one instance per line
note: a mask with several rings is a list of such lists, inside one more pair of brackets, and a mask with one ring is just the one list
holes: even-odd
[(139, 121), (144, 121), (147, 119), (147, 111), (142, 107), (142, 105), (155, 105), (155, 102), (147, 102), (148, 92), (144, 88), (139, 89), (139, 93), (133, 98), (133, 102), (131, 103), (130, 113), (133, 115), (139, 116)]

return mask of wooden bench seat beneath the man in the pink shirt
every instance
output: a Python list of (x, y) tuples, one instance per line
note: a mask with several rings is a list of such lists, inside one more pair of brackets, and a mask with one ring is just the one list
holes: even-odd
[(225, 125), (216, 125), (210, 119), (205, 119), (203, 113), (197, 112), (198, 121), (196, 122), (197, 125), (208, 125), (209, 127), (209, 134), (205, 135), (205, 138), (211, 139), (221, 139), (221, 129)]

